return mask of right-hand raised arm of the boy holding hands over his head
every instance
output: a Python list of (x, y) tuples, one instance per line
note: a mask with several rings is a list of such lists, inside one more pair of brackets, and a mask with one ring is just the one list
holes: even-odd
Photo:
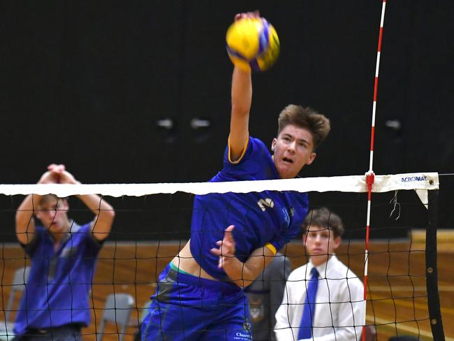
[[(69, 173), (64, 165), (51, 165), (52, 170), (59, 175), (59, 183), (61, 184), (80, 184), (75, 177)], [(112, 228), (115, 211), (107, 201), (101, 196), (96, 194), (87, 194), (78, 196), (91, 212), (95, 215), (93, 223), (91, 224), (91, 231), (94, 238), (97, 240), (104, 240), (108, 237)]]

